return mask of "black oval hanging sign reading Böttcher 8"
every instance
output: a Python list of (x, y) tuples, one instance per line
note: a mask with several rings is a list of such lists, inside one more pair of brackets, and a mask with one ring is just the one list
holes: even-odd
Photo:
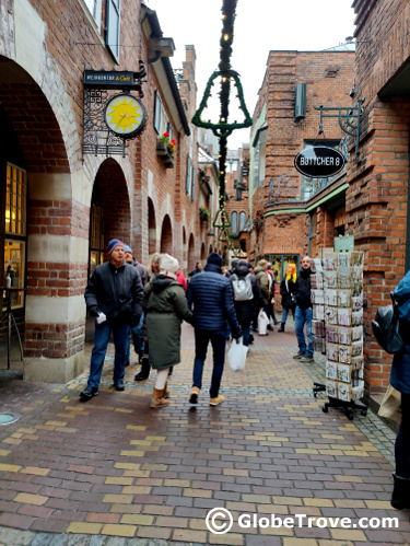
[(313, 146), (298, 152), (295, 167), (305, 176), (326, 178), (333, 176), (345, 165), (344, 155), (335, 148)]

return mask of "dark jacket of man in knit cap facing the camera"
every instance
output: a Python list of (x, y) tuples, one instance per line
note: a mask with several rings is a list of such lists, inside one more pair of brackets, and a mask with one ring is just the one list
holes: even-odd
[(142, 283), (134, 267), (110, 262), (97, 266), (85, 289), (86, 309), (92, 316), (102, 311), (113, 325), (138, 324), (142, 314)]

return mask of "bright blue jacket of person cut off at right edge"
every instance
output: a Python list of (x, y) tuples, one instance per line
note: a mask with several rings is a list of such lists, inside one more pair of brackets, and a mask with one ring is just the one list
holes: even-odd
[(401, 279), (394, 294), (399, 302), (400, 334), (406, 348), (394, 356), (390, 385), (400, 393), (410, 394), (410, 271)]

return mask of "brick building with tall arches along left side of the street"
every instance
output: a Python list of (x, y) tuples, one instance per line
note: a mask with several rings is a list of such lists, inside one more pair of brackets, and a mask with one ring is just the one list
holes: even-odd
[[(189, 121), (196, 54), (186, 47), (177, 82), (173, 49), (155, 11), (140, 0), (124, 0), (120, 10), (114, 0), (2, 3), (0, 286), (25, 288), (12, 303), (27, 380), (66, 382), (82, 371), (84, 288), (112, 237), (129, 243), (142, 263), (155, 251), (172, 253), (184, 271), (209, 248), (198, 213), (197, 130)], [(85, 153), (84, 142), (95, 142), (84, 105), (104, 112), (121, 91), (87, 94), (84, 70), (137, 73), (140, 60), (145, 129), (124, 153), (124, 146), (108, 147), (106, 125), (95, 125), (106, 148)], [(166, 131), (176, 143), (164, 156), (157, 140)]]

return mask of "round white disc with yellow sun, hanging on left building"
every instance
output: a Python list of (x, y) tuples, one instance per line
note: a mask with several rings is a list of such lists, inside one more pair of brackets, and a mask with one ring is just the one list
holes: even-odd
[(145, 120), (144, 106), (132, 95), (116, 95), (107, 103), (105, 123), (118, 137), (134, 137), (144, 128)]

